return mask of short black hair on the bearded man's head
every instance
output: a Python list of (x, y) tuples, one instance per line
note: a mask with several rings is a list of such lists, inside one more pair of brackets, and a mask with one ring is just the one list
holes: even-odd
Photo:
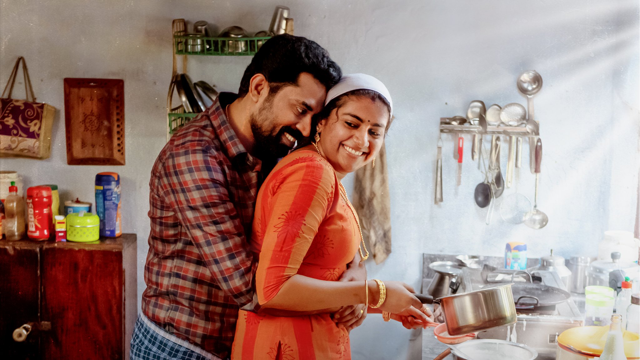
[(326, 90), (337, 84), (342, 70), (329, 53), (308, 38), (283, 34), (270, 38), (253, 56), (244, 70), (238, 95), (244, 97), (249, 92), (251, 78), (262, 74), (269, 82), (269, 96), (273, 96), (282, 86), (297, 85), (298, 76), (308, 72)]

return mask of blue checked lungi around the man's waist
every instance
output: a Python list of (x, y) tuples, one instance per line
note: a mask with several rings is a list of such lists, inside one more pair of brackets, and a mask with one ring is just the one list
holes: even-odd
[(221, 360), (204, 350), (176, 338), (150, 322), (144, 315), (138, 316), (131, 336), (131, 360)]

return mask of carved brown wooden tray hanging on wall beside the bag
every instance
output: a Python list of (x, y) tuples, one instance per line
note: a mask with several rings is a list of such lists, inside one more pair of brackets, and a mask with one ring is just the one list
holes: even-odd
[(124, 165), (124, 81), (65, 78), (69, 165)]

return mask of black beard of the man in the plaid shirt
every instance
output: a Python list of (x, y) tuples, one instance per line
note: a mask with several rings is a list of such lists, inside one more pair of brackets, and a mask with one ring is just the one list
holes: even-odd
[(296, 139), (303, 137), (298, 129), (291, 127), (281, 127), (278, 132), (275, 132), (275, 116), (269, 99), (266, 99), (257, 113), (251, 115), (250, 124), (255, 140), (253, 155), (262, 161), (276, 160), (289, 154), (291, 147), (282, 143), (285, 131)]

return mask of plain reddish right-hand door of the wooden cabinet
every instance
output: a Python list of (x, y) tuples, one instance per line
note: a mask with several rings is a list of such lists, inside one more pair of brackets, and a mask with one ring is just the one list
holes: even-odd
[(46, 359), (123, 359), (122, 251), (42, 249), (42, 333)]

